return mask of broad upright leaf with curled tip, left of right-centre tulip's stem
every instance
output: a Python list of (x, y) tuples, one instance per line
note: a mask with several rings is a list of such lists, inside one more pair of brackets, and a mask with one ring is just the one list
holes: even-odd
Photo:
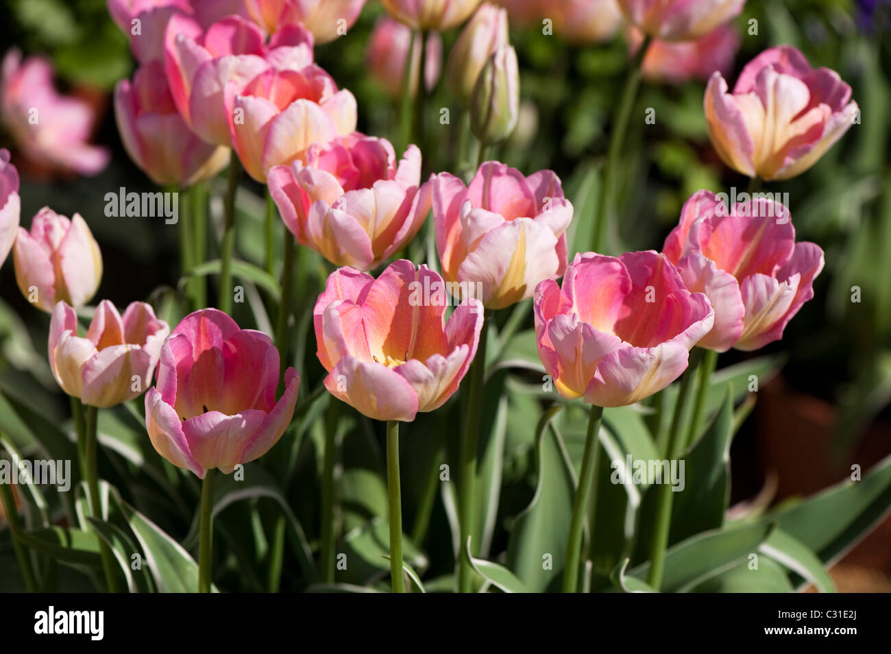
[[(560, 406), (546, 409), (535, 428), (535, 495), (514, 519), (508, 536), (508, 568), (535, 593), (560, 585), (576, 491), (566, 449), (557, 432), (548, 429), (559, 411)], [(544, 556), (551, 557), (550, 569), (543, 565)]]

